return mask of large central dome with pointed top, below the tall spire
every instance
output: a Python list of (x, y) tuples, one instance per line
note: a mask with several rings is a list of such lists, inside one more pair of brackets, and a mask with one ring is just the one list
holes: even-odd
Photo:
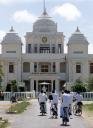
[(56, 32), (57, 24), (51, 20), (47, 12), (44, 11), (41, 17), (33, 24), (34, 32)]

